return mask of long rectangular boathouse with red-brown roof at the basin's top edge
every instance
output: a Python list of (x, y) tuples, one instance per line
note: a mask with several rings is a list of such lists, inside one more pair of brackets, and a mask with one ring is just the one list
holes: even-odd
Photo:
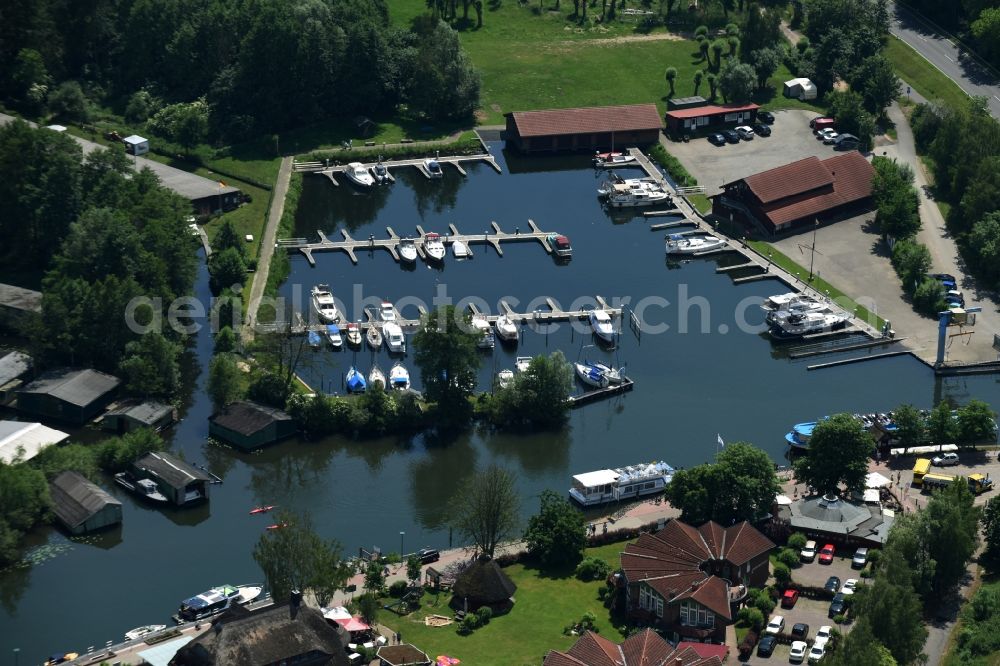
[(655, 104), (595, 106), (506, 114), (507, 144), (523, 153), (610, 150), (656, 143)]

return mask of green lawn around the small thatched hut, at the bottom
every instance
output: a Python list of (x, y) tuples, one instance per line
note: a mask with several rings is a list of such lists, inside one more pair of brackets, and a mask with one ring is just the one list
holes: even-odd
[[(588, 548), (587, 556), (600, 557), (617, 568), (618, 554), (624, 548), (624, 543)], [(564, 636), (563, 628), (578, 621), (587, 611), (597, 616), (602, 636), (615, 641), (622, 639), (612, 625), (608, 609), (597, 598), (598, 589), (604, 585), (602, 581), (583, 583), (572, 573), (555, 576), (522, 564), (504, 571), (517, 584), (514, 610), (493, 618), (469, 636), (459, 636), (454, 625), (436, 628), (424, 625), (426, 615), (452, 615), (445, 594), (440, 596), (437, 606), (433, 596), (425, 596), (424, 606), (406, 617), (382, 611), (379, 622), (400, 632), (405, 642), (413, 643), (432, 659), (447, 654), (466, 664), (487, 666), (538, 666), (549, 650), (569, 649), (576, 637)]]

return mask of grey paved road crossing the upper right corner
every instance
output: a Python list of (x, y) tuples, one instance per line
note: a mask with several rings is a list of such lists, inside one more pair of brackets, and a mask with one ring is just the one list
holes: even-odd
[(966, 93), (988, 98), (990, 112), (1000, 117), (1000, 78), (960, 44), (905, 7), (894, 4), (890, 19), (892, 34), (912, 46)]

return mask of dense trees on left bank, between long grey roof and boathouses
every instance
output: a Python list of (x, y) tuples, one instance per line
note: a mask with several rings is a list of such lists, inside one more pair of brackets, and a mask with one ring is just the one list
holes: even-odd
[(148, 298), (135, 319), (151, 323), (190, 293), (190, 203), (151, 171), (133, 172), (120, 147), (84, 156), (69, 137), (21, 121), (0, 128), (0, 183), (5, 265), (45, 272), (42, 314), (29, 331), (38, 356), (120, 374), (139, 395), (171, 396), (180, 346), (166, 328), (167, 337), (130, 330), (126, 312)]

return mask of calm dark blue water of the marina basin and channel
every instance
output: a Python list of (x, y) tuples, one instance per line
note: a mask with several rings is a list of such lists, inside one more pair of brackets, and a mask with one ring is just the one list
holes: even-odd
[[(14, 647), (28, 664), (59, 650), (118, 640), (133, 626), (166, 621), (182, 598), (207, 587), (260, 580), (251, 551), (270, 521), (247, 514), (259, 503), (309, 511), (318, 530), (339, 539), (348, 553), (374, 545), (396, 551), (401, 531), (407, 551), (447, 547), (448, 507), (456, 489), (491, 462), (518, 474), (527, 515), (537, 508), (538, 493), (562, 492), (572, 474), (653, 459), (682, 466), (709, 460), (716, 434), (751, 441), (783, 462), (782, 437), (796, 421), (886, 410), (903, 401), (930, 407), (944, 397), (978, 397), (994, 408), (1000, 403), (995, 378), (936, 380), (907, 357), (807, 372), (806, 362), (779, 358), (764, 336), (737, 327), (741, 302), (784, 291), (782, 285), (734, 286), (715, 273), (726, 258), (668, 265), (662, 233), (650, 232), (641, 217), (613, 221), (601, 210), (594, 195), (598, 181), (586, 158), (513, 161), (499, 146), (493, 150), (501, 157), (502, 175), (471, 166), (468, 178), (446, 169), (443, 181), (432, 182), (402, 171), (395, 185), (368, 193), (307, 177), (295, 235), (312, 237), (319, 228), (332, 236), (343, 227), (355, 237), (384, 237), (386, 226), (405, 235), (417, 224), (444, 233), (449, 223), (473, 233), (485, 231), (491, 220), (505, 230), (524, 230), (532, 218), (544, 230), (570, 236), (574, 256), (568, 265), (554, 263), (537, 243), (504, 245), (503, 257), (475, 246), (474, 259), (449, 256), (441, 270), (419, 264), (407, 271), (382, 251), (360, 254), (357, 266), (341, 253), (317, 254), (316, 268), (295, 256), (282, 294), (291, 299), (296, 289), (307, 294), (313, 284), (329, 283), (352, 318), (364, 297), (401, 303), (411, 316), (415, 302), (431, 304), (440, 293), (453, 302), (482, 299), (492, 312), (504, 297), (516, 299), (517, 310), (535, 309), (533, 299), (544, 297), (566, 308), (596, 294), (609, 301), (628, 298), (633, 305), (666, 299), (669, 305), (654, 303), (644, 319), (669, 330), (644, 334), (641, 343), (625, 333), (617, 353), (585, 347), (590, 336), (563, 325), (547, 335), (526, 330), (517, 350), (498, 346), (483, 357), (483, 388), (495, 370), (513, 367), (515, 356), (561, 350), (570, 360), (604, 356), (626, 363), (635, 391), (575, 411), (558, 433), (472, 431), (448, 442), (424, 436), (330, 438), (240, 454), (207, 443), (211, 407), (197, 368), (207, 365), (211, 337), (203, 331), (193, 348), (191, 397), (171, 437), (187, 460), (207, 464), (225, 484), (213, 487), (211, 502), (194, 511), (151, 510), (120, 494), (124, 525), (98, 538), (69, 540), (56, 530), (32, 535), (33, 552), (42, 561), (0, 573), (0, 663), (12, 663)], [(204, 269), (198, 291), (208, 298)], [(681, 305), (685, 298), (707, 305), (706, 332), (703, 309)], [(745, 314), (750, 323), (760, 323), (757, 308)], [(303, 374), (316, 388), (339, 391), (352, 363), (367, 372), (373, 362), (386, 371), (393, 363), (368, 351), (323, 351), (310, 353)], [(419, 388), (410, 357), (404, 362)], [(106, 487), (117, 493), (113, 484)]]

